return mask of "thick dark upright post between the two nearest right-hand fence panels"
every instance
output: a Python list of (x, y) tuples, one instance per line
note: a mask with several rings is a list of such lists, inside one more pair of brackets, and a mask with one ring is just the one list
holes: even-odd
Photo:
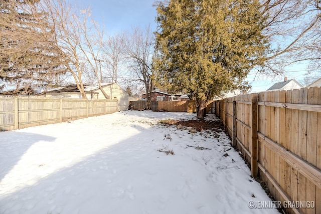
[(258, 164), (257, 164), (257, 155), (258, 155), (258, 140), (257, 140), (257, 97), (258, 94), (252, 94), (252, 148), (251, 148), (251, 174), (252, 177), (257, 177), (258, 175)]

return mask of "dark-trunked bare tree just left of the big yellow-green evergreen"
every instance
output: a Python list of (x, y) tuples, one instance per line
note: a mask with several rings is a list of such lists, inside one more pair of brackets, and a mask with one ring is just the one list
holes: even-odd
[(150, 92), (152, 89), (152, 57), (154, 36), (150, 26), (144, 29), (133, 28), (125, 36), (124, 53), (132, 81), (143, 84), (147, 95), (147, 109), (150, 109)]

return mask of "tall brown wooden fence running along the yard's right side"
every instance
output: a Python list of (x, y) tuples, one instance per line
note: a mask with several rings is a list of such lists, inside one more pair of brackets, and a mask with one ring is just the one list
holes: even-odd
[[(215, 112), (272, 196), (288, 213), (321, 213), (321, 88), (215, 101)], [(308, 208), (306, 203), (314, 206)], [(286, 203), (285, 203), (286, 204)]]

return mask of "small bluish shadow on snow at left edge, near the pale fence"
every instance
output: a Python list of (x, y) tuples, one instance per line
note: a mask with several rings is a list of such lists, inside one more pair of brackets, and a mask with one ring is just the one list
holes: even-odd
[(54, 141), (56, 138), (41, 134), (6, 131), (0, 132), (0, 181), (15, 167), (35, 143)]

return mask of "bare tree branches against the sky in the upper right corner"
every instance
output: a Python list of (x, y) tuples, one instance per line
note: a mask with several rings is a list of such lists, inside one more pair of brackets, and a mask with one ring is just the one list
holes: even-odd
[(306, 62), (309, 69), (320, 68), (321, 2), (319, 0), (262, 0), (262, 15), (268, 15), (263, 33), (270, 42), (263, 69), (281, 74), (284, 67)]

